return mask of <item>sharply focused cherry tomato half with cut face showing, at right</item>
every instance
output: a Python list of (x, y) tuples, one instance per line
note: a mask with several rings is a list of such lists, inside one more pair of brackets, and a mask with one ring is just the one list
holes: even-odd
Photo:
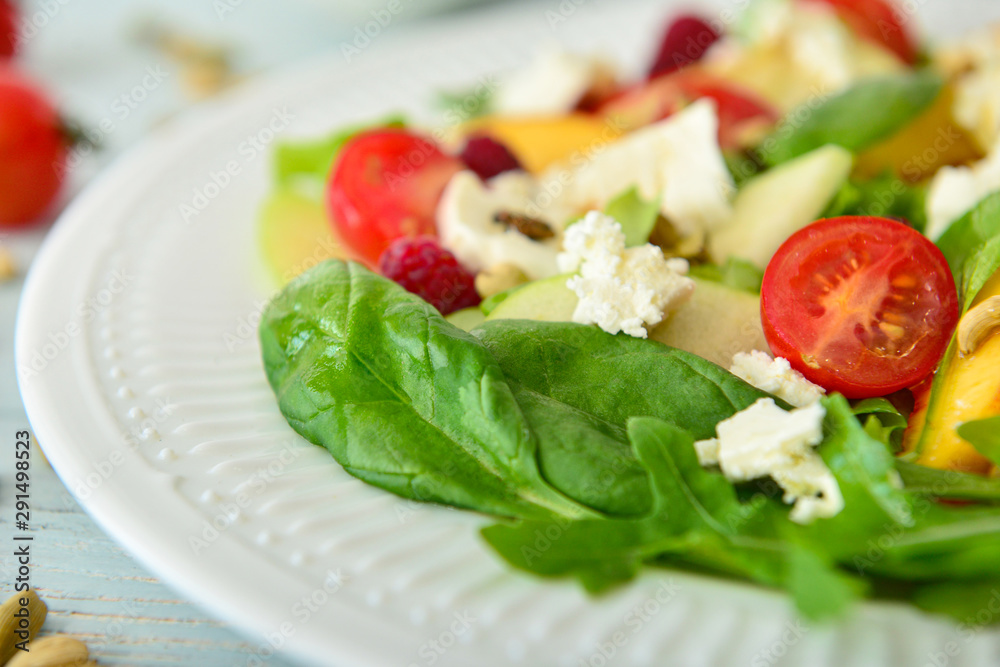
[(761, 287), (771, 350), (830, 391), (884, 396), (931, 373), (958, 324), (948, 263), (887, 218), (820, 220), (774, 255)]

